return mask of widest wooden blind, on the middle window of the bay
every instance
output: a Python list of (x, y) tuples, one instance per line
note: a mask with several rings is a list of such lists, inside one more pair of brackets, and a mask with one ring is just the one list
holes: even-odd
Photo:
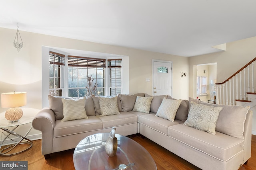
[(69, 55), (68, 66), (105, 68), (106, 59), (96, 59)]

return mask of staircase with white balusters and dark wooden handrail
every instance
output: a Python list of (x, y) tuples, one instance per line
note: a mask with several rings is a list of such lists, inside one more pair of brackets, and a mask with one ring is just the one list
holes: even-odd
[[(222, 83), (216, 83), (216, 104), (250, 106), (253, 111), (252, 134), (256, 135), (256, 93), (254, 92), (254, 62), (243, 66)], [(255, 70), (255, 71), (254, 71)]]

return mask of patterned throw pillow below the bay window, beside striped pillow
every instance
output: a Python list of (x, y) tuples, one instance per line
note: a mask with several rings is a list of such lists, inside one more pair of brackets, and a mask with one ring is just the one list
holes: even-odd
[(117, 96), (99, 97), (101, 116), (120, 114), (117, 107)]

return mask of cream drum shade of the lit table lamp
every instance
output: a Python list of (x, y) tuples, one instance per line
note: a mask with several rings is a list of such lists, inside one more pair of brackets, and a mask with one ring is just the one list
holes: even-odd
[(21, 107), (27, 104), (26, 92), (11, 92), (1, 94), (2, 108)]

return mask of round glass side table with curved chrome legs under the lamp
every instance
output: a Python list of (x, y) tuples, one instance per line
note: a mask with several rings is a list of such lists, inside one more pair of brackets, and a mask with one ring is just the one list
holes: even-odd
[[(20, 118), (20, 120), (18, 122), (15, 122), (15, 123), (9, 123), (9, 121), (4, 117), (5, 112), (0, 113), (0, 129), (2, 129), (3, 130), (2, 133), (4, 135), (6, 135), (6, 137), (0, 143), (0, 155), (1, 156), (12, 156), (15, 154), (19, 154), (21, 152), (24, 152), (24, 151), (30, 149), (33, 145), (32, 141), (30, 141), (29, 139), (26, 138), (26, 136), (32, 129), (32, 125), (31, 125), (30, 129), (27, 131), (26, 135), (24, 135), (24, 136), (14, 132), (14, 130), (17, 127), (19, 127), (20, 125), (25, 125), (25, 124), (31, 123), (34, 116), (40, 110), (33, 109), (33, 108), (22, 108), (22, 110), (23, 110), (23, 116)], [(10, 130), (10, 129), (8, 129), (9, 127), (14, 127), (14, 129)], [(10, 137), (12, 135), (17, 137), (17, 139), (12, 139)], [(2, 146), (4, 145), (4, 141), (6, 141), (6, 139), (10, 139), (11, 141), (14, 141), (14, 143), (10, 144), (10, 145), (4, 147), (4, 149), (2, 149)], [(20, 150), (18, 152), (11, 152), (16, 146), (22, 145), (22, 144), (27, 144), (28, 147), (26, 147), (25, 149)]]

